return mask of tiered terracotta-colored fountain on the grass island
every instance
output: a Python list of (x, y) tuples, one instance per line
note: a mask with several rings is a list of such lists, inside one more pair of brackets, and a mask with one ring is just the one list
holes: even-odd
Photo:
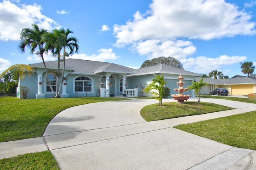
[(178, 91), (179, 94), (177, 95), (171, 95), (173, 97), (174, 100), (178, 100), (177, 103), (185, 103), (184, 100), (188, 100), (188, 98), (191, 95), (184, 95), (183, 92), (184, 91), (188, 91), (188, 89), (183, 89), (183, 84), (185, 84), (186, 82), (182, 82), (182, 80), (184, 79), (184, 77), (182, 77), (182, 74), (180, 74), (180, 77), (178, 77), (178, 79), (180, 80), (179, 82), (177, 82), (177, 84), (180, 85), (180, 87), (178, 89), (174, 89), (175, 91)]

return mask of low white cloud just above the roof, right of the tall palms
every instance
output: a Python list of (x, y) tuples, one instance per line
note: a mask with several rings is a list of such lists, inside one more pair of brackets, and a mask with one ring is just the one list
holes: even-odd
[(69, 58), (76, 58), (76, 59), (86, 59), (86, 60), (92, 60), (92, 61), (106, 61), (108, 59), (115, 60), (119, 58), (115, 53), (112, 52), (112, 49), (99, 49), (98, 55), (87, 55), (87, 54), (74, 54), (70, 56)]

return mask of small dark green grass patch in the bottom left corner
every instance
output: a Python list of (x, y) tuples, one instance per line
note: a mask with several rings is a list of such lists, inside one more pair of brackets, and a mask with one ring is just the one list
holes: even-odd
[(0, 160), (1, 170), (59, 170), (50, 151), (22, 154)]

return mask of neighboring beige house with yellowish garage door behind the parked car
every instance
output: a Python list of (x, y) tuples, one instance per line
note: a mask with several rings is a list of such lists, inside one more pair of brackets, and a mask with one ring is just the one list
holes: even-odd
[[(196, 77), (196, 81), (199, 81), (200, 79), (201, 77)], [(212, 91), (218, 87), (227, 89), (228, 94), (230, 95), (248, 95), (250, 93), (256, 93), (255, 77), (235, 75), (229, 79), (204, 78), (204, 82), (209, 84), (202, 88), (202, 95), (210, 95)]]

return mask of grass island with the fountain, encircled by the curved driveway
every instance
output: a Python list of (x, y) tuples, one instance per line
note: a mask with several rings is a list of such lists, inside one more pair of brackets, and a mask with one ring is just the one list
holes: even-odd
[(141, 109), (140, 115), (149, 122), (231, 109), (234, 108), (206, 102), (185, 102), (184, 104), (170, 102), (163, 103), (163, 106), (158, 104), (145, 106)]

